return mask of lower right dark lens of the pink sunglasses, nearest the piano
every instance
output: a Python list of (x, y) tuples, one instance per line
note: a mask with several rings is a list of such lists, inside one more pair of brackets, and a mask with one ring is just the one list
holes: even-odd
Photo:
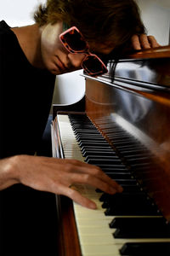
[(82, 62), (82, 67), (91, 75), (107, 73), (108, 71), (102, 62), (94, 55), (88, 55)]

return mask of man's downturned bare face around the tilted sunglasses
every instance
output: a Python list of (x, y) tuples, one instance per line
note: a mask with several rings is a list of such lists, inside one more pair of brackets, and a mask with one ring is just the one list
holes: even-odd
[[(63, 32), (63, 23), (48, 24), (41, 28), (41, 51), (44, 66), (55, 75), (81, 69), (85, 54), (71, 54), (59, 40)], [(90, 52), (107, 55), (113, 49), (104, 44), (89, 44)]]

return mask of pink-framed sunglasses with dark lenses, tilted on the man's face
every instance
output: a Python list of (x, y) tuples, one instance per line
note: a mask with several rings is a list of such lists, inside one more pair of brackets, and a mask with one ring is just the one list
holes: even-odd
[(104, 62), (101, 61), (97, 55), (89, 52), (88, 43), (84, 40), (82, 33), (76, 26), (71, 26), (71, 28), (62, 32), (59, 35), (59, 39), (71, 54), (86, 54), (85, 58), (82, 60), (81, 66), (88, 75), (97, 76), (108, 72)]

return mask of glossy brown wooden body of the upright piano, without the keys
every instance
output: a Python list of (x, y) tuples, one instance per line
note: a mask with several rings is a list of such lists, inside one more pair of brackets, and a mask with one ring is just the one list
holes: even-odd
[[(110, 73), (107, 75), (98, 78), (84, 76), (85, 113), (169, 221), (170, 47), (147, 49), (130, 55), (119, 60), (115, 70), (114, 63), (109, 65)], [(144, 146), (145, 153), (139, 155), (134, 144), (130, 148), (126, 138), (124, 145), (122, 141), (115, 143), (111, 129), (115, 124), (133, 137), (135, 143)], [(119, 151), (119, 145), (132, 151), (132, 159), (127, 159), (126, 154)], [(57, 201), (59, 256), (82, 255), (72, 202), (64, 196), (59, 196)]]

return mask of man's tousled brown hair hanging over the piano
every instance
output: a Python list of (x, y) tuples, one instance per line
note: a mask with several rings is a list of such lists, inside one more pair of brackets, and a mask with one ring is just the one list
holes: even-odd
[(77, 26), (88, 43), (113, 48), (144, 33), (139, 9), (133, 0), (48, 0), (34, 15), (39, 26), (64, 21)]

